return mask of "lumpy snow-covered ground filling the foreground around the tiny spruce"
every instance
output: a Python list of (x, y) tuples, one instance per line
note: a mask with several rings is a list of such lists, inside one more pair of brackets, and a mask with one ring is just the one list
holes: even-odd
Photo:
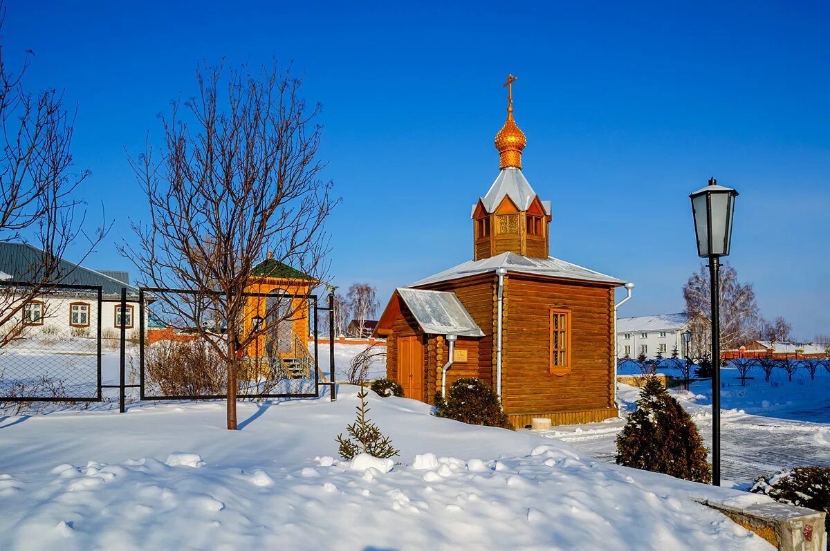
[[(0, 420), (0, 549), (771, 549), (695, 497), (769, 500), (593, 461), (370, 394), (391, 471), (339, 461), (328, 397)], [(433, 455), (429, 455), (433, 454)]]

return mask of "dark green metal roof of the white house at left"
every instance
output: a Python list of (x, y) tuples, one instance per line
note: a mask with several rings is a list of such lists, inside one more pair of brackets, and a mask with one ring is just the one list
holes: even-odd
[[(27, 243), (0, 242), (0, 271), (11, 275), (7, 280), (26, 283), (39, 279), (41, 255), (45, 254), (37, 247)], [(117, 280), (100, 271), (90, 270), (74, 262), (59, 259), (57, 273), (61, 277), (55, 281), (65, 285), (90, 285), (101, 287), (105, 295), (120, 295), (121, 288), (126, 287), (130, 294), (138, 293), (139, 288)]]

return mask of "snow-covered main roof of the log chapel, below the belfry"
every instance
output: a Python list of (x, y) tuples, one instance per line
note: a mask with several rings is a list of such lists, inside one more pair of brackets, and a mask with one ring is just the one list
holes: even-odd
[[(506, 169), (505, 169), (506, 170)], [(508, 272), (519, 272), (522, 274), (544, 275), (546, 277), (558, 277), (565, 280), (598, 281), (601, 283), (613, 283), (623, 285), (625, 281), (618, 280), (611, 275), (601, 274), (598, 271), (588, 270), (582, 266), (560, 261), (558, 258), (530, 258), (521, 256), (515, 252), (502, 252), (500, 255), (483, 258), (480, 261), (466, 261), (449, 270), (430, 275), (427, 278), (418, 280), (408, 287), (419, 287), (437, 283), (438, 281), (455, 280), (470, 275), (483, 274), (488, 271), (496, 271), (496, 268), (505, 268)]]

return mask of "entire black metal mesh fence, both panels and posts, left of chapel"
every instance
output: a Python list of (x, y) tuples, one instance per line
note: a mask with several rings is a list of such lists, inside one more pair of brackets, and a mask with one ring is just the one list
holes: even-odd
[[(12, 335), (0, 340), (8, 340), (0, 345), (0, 402), (100, 402), (104, 389), (118, 389), (124, 412), (128, 388), (139, 388), (142, 400), (226, 398), (227, 363), (217, 346), (227, 347), (227, 320), (200, 305), (200, 296), (150, 287), (104, 295), (95, 285), (49, 285), (33, 294), (31, 284), (0, 282), (0, 313), (16, 312), (0, 325), (0, 338)], [(286, 321), (277, 308), (276, 316), (240, 320), (260, 336), (238, 355), (237, 397), (319, 397), (329, 387), (336, 399), (334, 346), (325, 373), (318, 344), (320, 311), (329, 313), (333, 332), (334, 290), (325, 306), (318, 295), (245, 297), (300, 304), (301, 315)], [(178, 301), (194, 306), (191, 315), (175, 308)]]

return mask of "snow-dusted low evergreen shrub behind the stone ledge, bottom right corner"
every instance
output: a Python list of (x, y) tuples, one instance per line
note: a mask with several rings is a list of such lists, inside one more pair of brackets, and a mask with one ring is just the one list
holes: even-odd
[(830, 467), (796, 467), (792, 471), (762, 476), (749, 491), (790, 505), (824, 511), (828, 514), (824, 517), (824, 528), (830, 534)]

